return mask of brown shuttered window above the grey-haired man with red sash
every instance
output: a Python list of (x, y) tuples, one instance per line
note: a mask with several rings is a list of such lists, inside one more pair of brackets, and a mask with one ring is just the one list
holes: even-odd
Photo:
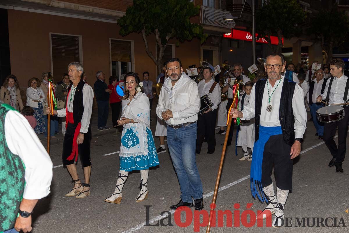
[(52, 74), (60, 77), (67, 73), (69, 63), (82, 63), (81, 49), (81, 36), (51, 34)]

